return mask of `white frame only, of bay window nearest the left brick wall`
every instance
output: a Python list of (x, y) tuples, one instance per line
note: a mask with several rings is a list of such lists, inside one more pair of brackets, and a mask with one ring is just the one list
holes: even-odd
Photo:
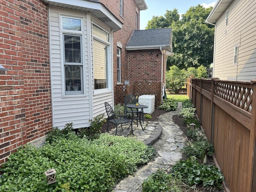
[[(81, 22), (81, 30), (66, 30), (62, 29), (62, 18), (71, 18), (71, 19), (77, 19)], [(62, 50), (62, 93), (64, 96), (76, 96), (76, 95), (85, 95), (85, 65), (84, 65), (84, 20), (81, 17), (74, 17), (74, 16), (67, 16), (67, 15), (60, 15), (60, 40), (61, 40), (61, 50)], [(65, 62), (65, 44), (64, 44), (64, 36), (70, 35), (70, 36), (80, 36), (81, 42), (80, 42), (80, 50), (81, 50), (81, 62), (80, 63), (70, 63)], [(78, 65), (82, 66), (81, 71), (81, 90), (66, 90), (66, 80), (65, 80), (65, 66), (68, 65)]]

